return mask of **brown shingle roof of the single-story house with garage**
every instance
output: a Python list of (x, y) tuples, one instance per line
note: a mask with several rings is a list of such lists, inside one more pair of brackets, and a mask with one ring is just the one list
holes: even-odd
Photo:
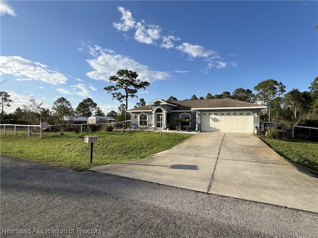
[[(152, 104), (152, 103), (151, 103)], [(185, 100), (173, 101), (169, 104), (175, 105), (173, 111), (191, 111), (191, 110), (216, 110), (216, 109), (262, 109), (263, 105), (239, 101), (231, 98), (223, 99), (204, 99), (204, 100)], [(129, 110), (130, 112), (152, 111), (151, 105)]]

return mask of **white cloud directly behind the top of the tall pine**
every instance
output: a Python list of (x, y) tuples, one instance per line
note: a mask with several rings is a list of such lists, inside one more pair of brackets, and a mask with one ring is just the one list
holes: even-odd
[(140, 64), (135, 60), (123, 55), (109, 54), (110, 51), (105, 52), (99, 47), (94, 47), (95, 51), (92, 53), (92, 48), (88, 46), (89, 52), (95, 59), (86, 60), (94, 69), (86, 75), (92, 79), (108, 81), (109, 77), (116, 75), (120, 69), (128, 69), (137, 72), (139, 79), (147, 82), (154, 82), (156, 80), (167, 79), (170, 77), (169, 73), (164, 71), (153, 71), (147, 65)]

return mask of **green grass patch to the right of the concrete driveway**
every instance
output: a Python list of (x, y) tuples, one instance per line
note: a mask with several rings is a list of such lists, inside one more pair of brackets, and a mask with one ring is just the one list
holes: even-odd
[(317, 142), (259, 138), (285, 159), (318, 171)]

